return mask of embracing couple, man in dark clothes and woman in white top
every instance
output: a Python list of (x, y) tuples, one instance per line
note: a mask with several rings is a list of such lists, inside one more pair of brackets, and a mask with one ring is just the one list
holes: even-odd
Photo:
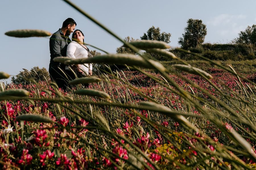
[[(84, 34), (81, 30), (76, 29), (77, 23), (72, 18), (67, 18), (62, 27), (50, 38), (50, 54), (51, 60), (49, 64), (49, 74), (51, 80), (55, 81), (59, 88), (64, 91), (67, 90), (69, 80), (75, 79), (75, 75), (70, 69), (77, 74), (78, 77), (90, 76), (92, 75), (92, 64), (77, 64), (77, 65), (64, 65), (59, 62), (54, 62), (55, 57), (70, 57), (76, 58), (88, 58), (92, 57), (90, 50), (84, 44)], [(72, 41), (69, 39), (69, 35), (72, 34)], [(59, 68), (58, 68), (59, 67)], [(63, 72), (67, 77), (63, 74)]]

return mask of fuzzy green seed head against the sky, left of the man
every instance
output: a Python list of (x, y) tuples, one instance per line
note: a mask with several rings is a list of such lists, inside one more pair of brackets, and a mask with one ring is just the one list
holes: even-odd
[(48, 37), (51, 35), (51, 33), (48, 31), (40, 30), (40, 29), (17, 29), (13, 31), (8, 31), (5, 33), (5, 35), (8, 35), (10, 37), (25, 38), (25, 37)]

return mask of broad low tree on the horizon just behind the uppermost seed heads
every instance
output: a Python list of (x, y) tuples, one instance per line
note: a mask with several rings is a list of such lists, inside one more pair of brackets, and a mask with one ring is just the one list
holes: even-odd
[(163, 41), (167, 44), (170, 43), (170, 37), (171, 33), (162, 32), (159, 27), (155, 28), (154, 26), (150, 27), (147, 31), (147, 33), (144, 33), (143, 36), (141, 36), (142, 40), (157, 40), (157, 41)]

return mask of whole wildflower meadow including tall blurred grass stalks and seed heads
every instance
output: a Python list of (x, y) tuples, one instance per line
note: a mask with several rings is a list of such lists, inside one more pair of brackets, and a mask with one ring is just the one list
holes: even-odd
[[(127, 43), (65, 2), (137, 55), (55, 58), (94, 64), (93, 76), (70, 81), (67, 92), (47, 79), (1, 82), (0, 169), (256, 169), (255, 73), (177, 48), (208, 66), (189, 63), (161, 41)], [(140, 50), (175, 63), (149, 59)], [(9, 76), (0, 72), (0, 79)]]

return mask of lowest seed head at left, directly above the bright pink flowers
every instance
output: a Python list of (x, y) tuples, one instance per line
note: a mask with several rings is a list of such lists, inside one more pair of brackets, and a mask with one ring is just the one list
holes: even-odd
[(17, 120), (25, 120), (30, 122), (54, 123), (51, 118), (38, 114), (22, 114), (16, 117)]

